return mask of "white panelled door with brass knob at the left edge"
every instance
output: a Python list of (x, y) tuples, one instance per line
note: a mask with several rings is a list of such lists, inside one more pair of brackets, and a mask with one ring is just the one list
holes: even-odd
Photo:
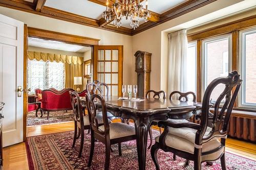
[(0, 101), (5, 103), (3, 147), (23, 141), (24, 23), (0, 14)]

